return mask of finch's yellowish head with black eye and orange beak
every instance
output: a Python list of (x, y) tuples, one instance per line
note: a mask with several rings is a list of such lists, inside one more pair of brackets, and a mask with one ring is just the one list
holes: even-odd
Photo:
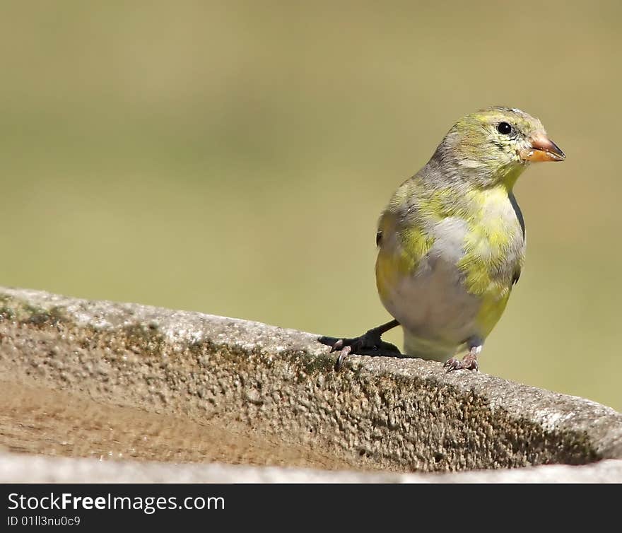
[(511, 188), (531, 162), (563, 161), (539, 119), (510, 107), (486, 107), (459, 119), (433, 159), (454, 176), (481, 187)]

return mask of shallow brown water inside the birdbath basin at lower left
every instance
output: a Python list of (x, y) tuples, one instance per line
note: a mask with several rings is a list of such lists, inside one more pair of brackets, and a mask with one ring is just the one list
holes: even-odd
[(141, 461), (228, 462), (351, 469), (351, 464), (276, 435), (198, 422), (176, 413), (102, 403), (84, 394), (0, 379), (0, 450)]

